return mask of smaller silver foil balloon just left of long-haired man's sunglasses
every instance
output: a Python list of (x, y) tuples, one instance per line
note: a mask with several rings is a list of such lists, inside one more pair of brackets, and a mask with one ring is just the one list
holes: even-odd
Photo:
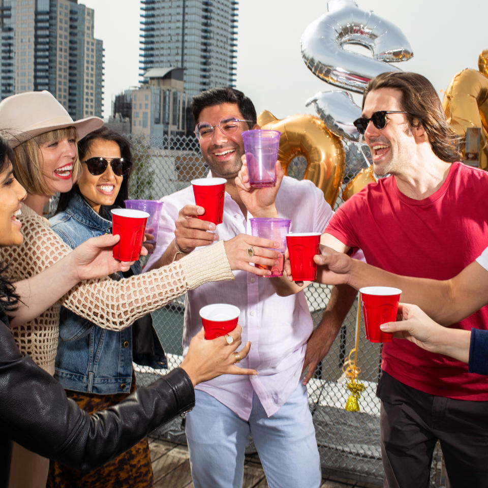
[(361, 138), (353, 121), (361, 116), (361, 107), (354, 103), (348, 92), (319, 92), (309, 98), (305, 105), (314, 104), (319, 118), (327, 129), (343, 140), (358, 142)]

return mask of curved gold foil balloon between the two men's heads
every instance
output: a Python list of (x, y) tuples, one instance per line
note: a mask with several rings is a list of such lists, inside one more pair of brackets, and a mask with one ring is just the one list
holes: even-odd
[(278, 160), (285, 174), (297, 156), (307, 160), (305, 179), (310, 179), (324, 193), (333, 207), (339, 195), (345, 168), (345, 154), (341, 139), (332, 134), (314, 115), (291, 115), (277, 119), (265, 110), (258, 116), (262, 129), (281, 132)]

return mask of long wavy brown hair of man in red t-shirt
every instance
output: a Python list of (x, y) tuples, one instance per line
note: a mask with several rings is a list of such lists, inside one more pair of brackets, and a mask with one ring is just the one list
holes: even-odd
[(410, 126), (423, 126), (432, 150), (439, 159), (448, 163), (461, 160), (457, 149), (459, 136), (449, 125), (436, 89), (425, 76), (404, 71), (391, 71), (376, 76), (364, 90), (362, 108), (367, 95), (380, 88), (393, 88), (402, 93), (400, 104), (402, 110), (408, 112)]

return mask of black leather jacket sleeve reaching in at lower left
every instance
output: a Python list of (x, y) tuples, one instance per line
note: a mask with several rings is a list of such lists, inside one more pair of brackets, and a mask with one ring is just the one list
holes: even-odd
[(13, 440), (68, 466), (93, 469), (194, 405), (192, 382), (177, 368), (117, 406), (88, 415), (51, 375), (20, 353), (10, 329), (0, 322), (0, 453), (8, 452)]

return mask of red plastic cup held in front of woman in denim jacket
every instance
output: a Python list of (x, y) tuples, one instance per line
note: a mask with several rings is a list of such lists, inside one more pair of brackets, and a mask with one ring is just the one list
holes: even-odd
[(113, 247), (113, 257), (119, 261), (137, 261), (149, 214), (131, 208), (114, 208), (110, 211), (112, 234), (120, 236), (120, 240)]

